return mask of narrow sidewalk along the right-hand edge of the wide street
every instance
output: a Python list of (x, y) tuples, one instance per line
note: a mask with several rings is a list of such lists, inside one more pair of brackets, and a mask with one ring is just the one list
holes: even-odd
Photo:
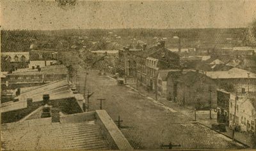
[[(154, 103), (161, 103), (164, 106), (166, 106), (167, 108), (172, 108), (172, 110), (174, 111), (179, 111), (180, 113), (182, 113), (183, 115), (186, 115), (187, 117), (189, 117), (192, 120), (195, 121), (195, 110), (194, 109), (189, 109), (186, 106), (180, 106), (177, 103), (173, 103), (172, 101), (168, 101), (165, 97), (161, 97), (159, 95), (157, 95), (157, 101), (156, 101), (156, 93), (154, 91), (150, 91), (148, 92), (147, 90), (145, 90), (144, 87), (136, 87), (136, 83), (134, 83), (134, 80), (127, 80), (127, 87), (130, 87), (132, 90), (136, 90), (138, 91), (142, 96), (145, 97), (150, 97), (151, 99), (154, 100)], [(211, 111), (211, 117), (212, 119), (210, 119), (210, 115), (209, 115), (209, 111), (196, 111), (196, 122), (200, 122), (201, 124), (204, 124), (207, 127), (211, 127), (212, 124), (218, 124), (217, 122), (217, 114), (216, 112), (214, 112), (213, 110)], [(228, 136), (230, 138), (232, 138), (232, 129), (230, 129), (229, 127), (227, 127), (227, 132), (226, 133), (222, 133), (225, 136)], [(241, 141), (242, 143), (250, 146), (250, 148), (252, 148), (255, 144), (256, 141), (255, 139), (252, 138), (252, 136), (250, 136), (249, 134), (244, 134), (244, 133), (235, 133), (234, 138), (238, 141)]]

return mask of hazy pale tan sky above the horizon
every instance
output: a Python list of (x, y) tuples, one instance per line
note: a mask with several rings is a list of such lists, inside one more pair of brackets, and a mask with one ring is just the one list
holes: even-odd
[(246, 27), (256, 1), (55, 1), (1, 0), (3, 29)]

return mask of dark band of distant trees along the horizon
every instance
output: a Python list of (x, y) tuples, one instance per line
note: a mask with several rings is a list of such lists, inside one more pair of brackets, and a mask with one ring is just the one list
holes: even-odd
[(187, 40), (215, 42), (220, 39), (233, 38), (244, 40), (246, 28), (236, 29), (63, 29), (55, 31), (14, 30), (1, 31), (1, 50), (3, 52), (29, 51), (33, 43), (41, 48), (67, 48), (76, 43), (74, 37), (88, 36), (90, 40), (113, 35), (125, 37), (168, 37), (179, 36)]

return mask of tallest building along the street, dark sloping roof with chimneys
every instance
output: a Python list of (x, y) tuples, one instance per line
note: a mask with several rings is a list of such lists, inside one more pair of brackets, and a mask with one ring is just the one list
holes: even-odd
[(148, 90), (156, 90), (157, 76), (166, 69), (179, 69), (179, 55), (164, 48), (164, 41), (137, 54), (137, 79)]

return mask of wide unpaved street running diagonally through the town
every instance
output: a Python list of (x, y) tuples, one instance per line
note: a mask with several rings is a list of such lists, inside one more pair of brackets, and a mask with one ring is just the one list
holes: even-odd
[[(79, 69), (81, 94), (84, 90), (84, 73), (82, 68)], [(135, 149), (166, 149), (161, 145), (170, 142), (181, 145), (173, 147), (177, 149), (237, 148), (236, 143), (224, 136), (198, 124), (191, 124), (192, 118), (154, 103), (150, 97), (141, 96), (129, 87), (117, 85), (115, 79), (98, 73), (99, 71), (91, 70), (86, 78), (86, 89), (94, 92), (90, 97), (89, 111), (100, 109), (100, 101), (97, 99), (106, 99), (102, 101), (102, 109), (108, 111), (113, 120), (118, 120), (120, 116), (124, 121), (121, 126), (125, 127), (121, 131)], [(219, 143), (216, 143), (214, 136), (220, 139)]]

